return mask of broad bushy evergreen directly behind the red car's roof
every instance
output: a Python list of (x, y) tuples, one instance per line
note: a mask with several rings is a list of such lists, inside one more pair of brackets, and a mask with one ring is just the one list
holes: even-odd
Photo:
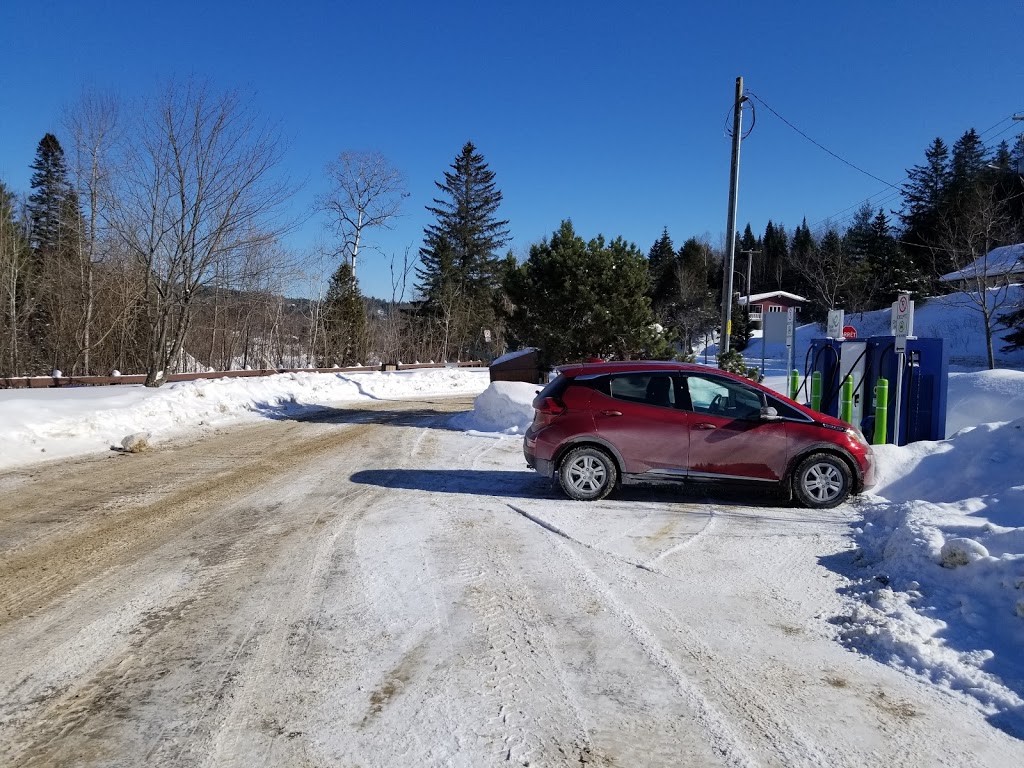
[(667, 356), (647, 296), (647, 263), (621, 238), (588, 243), (563, 221), (510, 276), (514, 340), (540, 348), (548, 364)]

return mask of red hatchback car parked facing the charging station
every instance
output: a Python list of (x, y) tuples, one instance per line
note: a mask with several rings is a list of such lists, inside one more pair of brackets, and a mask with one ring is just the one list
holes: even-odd
[(874, 482), (859, 430), (717, 369), (566, 366), (534, 409), (526, 463), (582, 501), (623, 482), (724, 480), (827, 508)]

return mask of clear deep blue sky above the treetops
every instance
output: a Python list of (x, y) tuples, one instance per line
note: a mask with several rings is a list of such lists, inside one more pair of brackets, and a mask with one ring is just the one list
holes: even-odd
[[(927, 144), (966, 129), (1012, 139), (1024, 123), (1024, 3), (948, 2), (194, 2), (35, 0), (0, 7), (0, 179), (28, 189), (29, 164), (83, 87), (126, 98), (197, 76), (255, 94), (290, 139), (304, 181), (297, 213), (339, 152), (383, 153), (411, 197), (385, 254), (416, 253), (463, 143), (505, 196), (512, 250), (571, 218), (590, 238), (645, 252), (669, 227), (724, 237), (734, 81), (835, 153), (899, 183)], [(744, 117), (750, 126), (750, 112)], [(1002, 122), (1006, 121), (1006, 122)], [(997, 138), (995, 140), (998, 140)], [(742, 145), (740, 227), (792, 231), (837, 220), (885, 186), (830, 158), (767, 110)], [(312, 218), (289, 245), (311, 249)], [(389, 295), (386, 256), (360, 263)]]

